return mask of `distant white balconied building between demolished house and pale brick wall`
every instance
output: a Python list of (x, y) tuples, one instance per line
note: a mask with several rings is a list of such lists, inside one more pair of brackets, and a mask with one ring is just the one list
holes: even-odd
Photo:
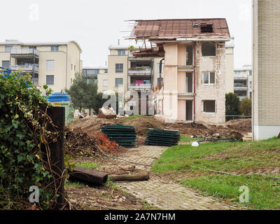
[(251, 65), (244, 65), (241, 69), (235, 69), (235, 93), (240, 100), (244, 98), (252, 99), (253, 75)]

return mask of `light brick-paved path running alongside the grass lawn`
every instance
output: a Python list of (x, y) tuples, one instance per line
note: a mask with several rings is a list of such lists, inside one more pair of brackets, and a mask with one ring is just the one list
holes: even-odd
[[(166, 150), (160, 146), (140, 146), (132, 148), (122, 158), (132, 162), (152, 164), (154, 160)], [(122, 162), (128, 165), (127, 162)], [(151, 167), (136, 165), (138, 169), (149, 172)], [(118, 186), (123, 190), (146, 200), (153, 206), (166, 210), (202, 210), (202, 209), (238, 209), (213, 197), (204, 197), (185, 186), (167, 178), (151, 173), (149, 181), (120, 182)]]

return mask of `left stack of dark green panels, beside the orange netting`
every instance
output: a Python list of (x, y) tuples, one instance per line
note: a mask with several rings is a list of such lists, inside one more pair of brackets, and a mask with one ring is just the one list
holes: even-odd
[(136, 132), (135, 127), (125, 125), (101, 125), (102, 133), (111, 141), (125, 148), (135, 146)]

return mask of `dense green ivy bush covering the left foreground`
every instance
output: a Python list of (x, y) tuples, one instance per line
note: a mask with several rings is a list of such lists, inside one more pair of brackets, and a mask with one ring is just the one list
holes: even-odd
[(52, 208), (57, 200), (52, 170), (41, 151), (41, 144), (48, 148), (57, 137), (45, 130), (52, 124), (43, 111), (47, 106), (28, 76), (0, 72), (0, 209), (29, 207), (31, 186), (40, 190), (40, 209)]

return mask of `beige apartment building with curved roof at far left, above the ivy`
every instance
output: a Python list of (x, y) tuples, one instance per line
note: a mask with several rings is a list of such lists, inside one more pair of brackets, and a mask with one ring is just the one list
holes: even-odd
[(82, 52), (76, 41), (65, 43), (0, 43), (0, 65), (31, 74), (34, 85), (49, 85), (54, 92), (69, 88), (75, 73), (82, 71)]

